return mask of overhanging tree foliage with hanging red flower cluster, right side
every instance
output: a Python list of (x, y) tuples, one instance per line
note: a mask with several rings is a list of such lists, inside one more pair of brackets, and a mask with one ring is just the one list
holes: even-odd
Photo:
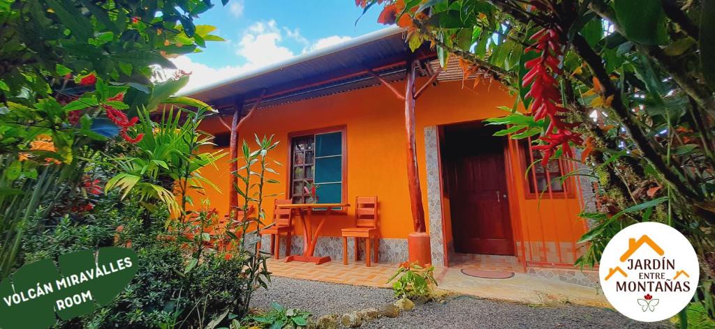
[(508, 115), (490, 120), (506, 125), (499, 135), (591, 168), (598, 211), (581, 214), (593, 225), (578, 265), (595, 265), (623, 227), (669, 224), (699, 255), (696, 300), (715, 318), (714, 1), (356, 4), (382, 4), (379, 21), (406, 29), (412, 49), (427, 42), (441, 66), (458, 59), (475, 84), (513, 93)]

